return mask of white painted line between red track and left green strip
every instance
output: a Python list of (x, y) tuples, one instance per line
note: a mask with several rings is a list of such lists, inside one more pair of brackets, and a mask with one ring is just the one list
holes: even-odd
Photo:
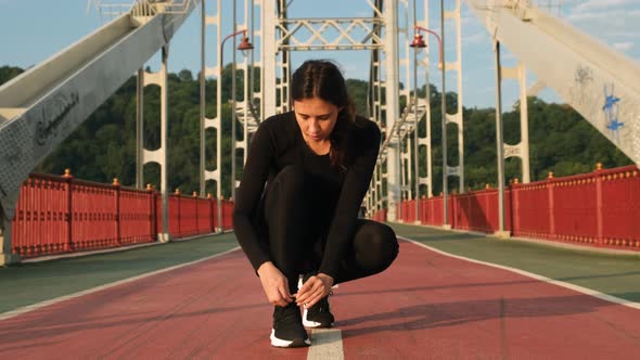
[(28, 305), (28, 306), (25, 306), (25, 307), (22, 307), (22, 308), (17, 308), (15, 310), (2, 312), (2, 313), (0, 313), (0, 320), (7, 320), (7, 319), (10, 319), (10, 318), (13, 318), (13, 317), (17, 317), (20, 314), (23, 314), (23, 313), (26, 313), (26, 312), (29, 312), (29, 311), (34, 311), (34, 310), (43, 308), (46, 306), (57, 304), (60, 301), (64, 301), (64, 300), (73, 299), (73, 298), (80, 297), (80, 296), (84, 296), (84, 295), (97, 293), (97, 292), (100, 292), (100, 291), (103, 291), (103, 290), (106, 290), (106, 288), (110, 288), (110, 287), (118, 286), (118, 285), (121, 285), (121, 284), (127, 284), (127, 283), (130, 283), (130, 282), (133, 282), (133, 281), (137, 281), (137, 280), (141, 280), (141, 279), (144, 279), (144, 278), (153, 277), (153, 275), (156, 275), (158, 273), (163, 273), (163, 272), (167, 272), (167, 271), (171, 271), (171, 270), (184, 268), (184, 267), (188, 267), (188, 266), (191, 266), (191, 265), (195, 265), (195, 263), (199, 263), (199, 262), (203, 262), (203, 261), (206, 261), (206, 260), (210, 260), (210, 259), (214, 259), (216, 257), (219, 257), (219, 256), (222, 256), (222, 255), (226, 255), (226, 254), (235, 252), (239, 248), (240, 248), (240, 246), (235, 246), (235, 247), (233, 247), (231, 249), (228, 249), (228, 250), (226, 250), (223, 253), (212, 255), (212, 256), (207, 256), (205, 258), (197, 259), (197, 260), (194, 260), (194, 261), (176, 265), (176, 266), (172, 266), (172, 267), (169, 267), (169, 268), (165, 268), (165, 269), (161, 269), (161, 270), (156, 270), (156, 271), (152, 271), (152, 272), (146, 272), (146, 273), (143, 273), (143, 274), (133, 277), (133, 278), (118, 280), (118, 281), (113, 282), (113, 283), (100, 285), (100, 286), (92, 287), (92, 288), (89, 288), (89, 290), (84, 290), (81, 292), (77, 292), (77, 293), (74, 293), (74, 294), (71, 294), (71, 295), (65, 295), (65, 296), (56, 297), (56, 298), (53, 298), (53, 299), (50, 299), (50, 300), (44, 300), (44, 301), (36, 303), (36, 304), (33, 304), (33, 305)]

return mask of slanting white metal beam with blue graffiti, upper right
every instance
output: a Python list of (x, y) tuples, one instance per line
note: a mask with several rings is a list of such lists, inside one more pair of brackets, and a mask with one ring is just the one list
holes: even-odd
[(490, 34), (539, 80), (640, 164), (637, 62), (534, 8), (526, 9), (526, 16), (521, 16), (523, 9), (488, 9), (484, 1), (466, 1), (485, 21)]

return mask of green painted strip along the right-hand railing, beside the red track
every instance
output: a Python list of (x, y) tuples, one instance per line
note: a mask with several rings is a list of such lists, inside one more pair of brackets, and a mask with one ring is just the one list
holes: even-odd
[(400, 236), (449, 254), (508, 266), (640, 301), (640, 254), (600, 254), (425, 227), (389, 226)]

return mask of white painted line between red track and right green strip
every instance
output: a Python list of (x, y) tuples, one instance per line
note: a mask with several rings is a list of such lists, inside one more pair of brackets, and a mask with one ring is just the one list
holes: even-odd
[(408, 237), (404, 237), (404, 236), (397, 236), (397, 237), (398, 239), (401, 239), (401, 240), (405, 240), (405, 241), (408, 241), (410, 243), (413, 243), (413, 244), (415, 244), (418, 246), (422, 246), (424, 248), (427, 248), (427, 249), (430, 249), (430, 250), (432, 250), (434, 253), (440, 254), (440, 255), (445, 255), (445, 256), (448, 256), (448, 257), (452, 257), (452, 258), (456, 258), (456, 259), (465, 260), (465, 261), (470, 261), (470, 262), (485, 265), (485, 266), (488, 266), (488, 267), (491, 267), (491, 268), (497, 268), (497, 269), (502, 269), (502, 270), (515, 272), (517, 274), (521, 274), (521, 275), (524, 275), (524, 277), (528, 277), (528, 278), (532, 278), (532, 279), (535, 279), (535, 280), (545, 282), (545, 283), (554, 284), (554, 285), (558, 285), (558, 286), (562, 286), (562, 287), (565, 287), (565, 288), (573, 290), (573, 291), (578, 292), (578, 293), (583, 293), (583, 294), (586, 294), (586, 295), (590, 295), (590, 296), (597, 297), (597, 298), (602, 299), (602, 300), (605, 300), (605, 301), (611, 301), (611, 303), (624, 305), (624, 306), (627, 306), (627, 307), (630, 307), (630, 308), (639, 309), (640, 310), (640, 304), (639, 303), (635, 303), (635, 301), (626, 300), (626, 299), (623, 299), (623, 298), (619, 298), (619, 297), (615, 297), (615, 296), (612, 296), (612, 295), (603, 294), (603, 293), (597, 292), (594, 290), (583, 287), (583, 286), (579, 286), (579, 285), (574, 285), (574, 284), (571, 284), (571, 283), (567, 283), (567, 282), (564, 282), (564, 281), (549, 279), (547, 277), (538, 275), (538, 274), (533, 273), (533, 272), (528, 272), (528, 271), (524, 271), (524, 270), (520, 270), (520, 269), (515, 269), (515, 268), (510, 268), (510, 267), (505, 267), (505, 266), (497, 265), (497, 263), (492, 263), (492, 262), (485, 262), (485, 261), (481, 261), (481, 260), (475, 260), (475, 259), (468, 258), (468, 257), (464, 257), (464, 256), (458, 256), (458, 255), (445, 253), (443, 250), (438, 250), (437, 248), (431, 247), (428, 245), (422, 244), (422, 243), (420, 243), (418, 241), (414, 241), (414, 240), (411, 240), (411, 239), (408, 239)]

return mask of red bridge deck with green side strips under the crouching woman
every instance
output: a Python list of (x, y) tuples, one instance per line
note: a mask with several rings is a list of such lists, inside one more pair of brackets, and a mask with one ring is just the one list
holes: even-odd
[[(640, 297), (638, 257), (590, 255), (417, 227), (396, 226), (396, 230), (458, 255), (473, 253), (505, 266), (516, 261), (527, 271), (537, 266), (533, 272), (591, 288), (607, 284), (607, 293), (629, 303)], [(332, 298), (336, 330), (312, 334), (317, 343), (332, 342), (327, 346), (269, 346), (270, 306), (243, 254), (234, 250), (33, 311), (0, 314), (4, 318), (0, 358), (304, 359), (340, 349), (348, 359), (581, 359), (626, 358), (640, 349), (639, 309), (422, 244), (401, 241), (400, 255), (389, 270), (340, 286)], [(33, 303), (29, 294), (61, 296), (78, 286), (92, 287), (233, 246), (232, 235), (223, 235), (2, 269), (0, 304), (8, 310)], [(60, 268), (67, 270), (53, 270)], [(112, 275), (105, 278), (107, 273)], [(79, 284), (80, 278), (99, 280)], [(15, 279), (22, 280), (20, 291), (17, 284), (12, 286)], [(57, 293), (39, 290), (43, 283), (54, 284)]]

